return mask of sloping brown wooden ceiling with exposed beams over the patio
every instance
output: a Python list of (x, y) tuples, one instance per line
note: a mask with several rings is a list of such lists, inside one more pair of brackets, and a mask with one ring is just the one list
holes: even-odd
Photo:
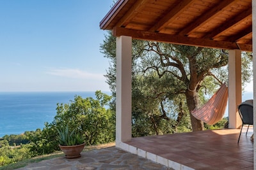
[(252, 0), (118, 0), (100, 29), (134, 39), (252, 51)]

